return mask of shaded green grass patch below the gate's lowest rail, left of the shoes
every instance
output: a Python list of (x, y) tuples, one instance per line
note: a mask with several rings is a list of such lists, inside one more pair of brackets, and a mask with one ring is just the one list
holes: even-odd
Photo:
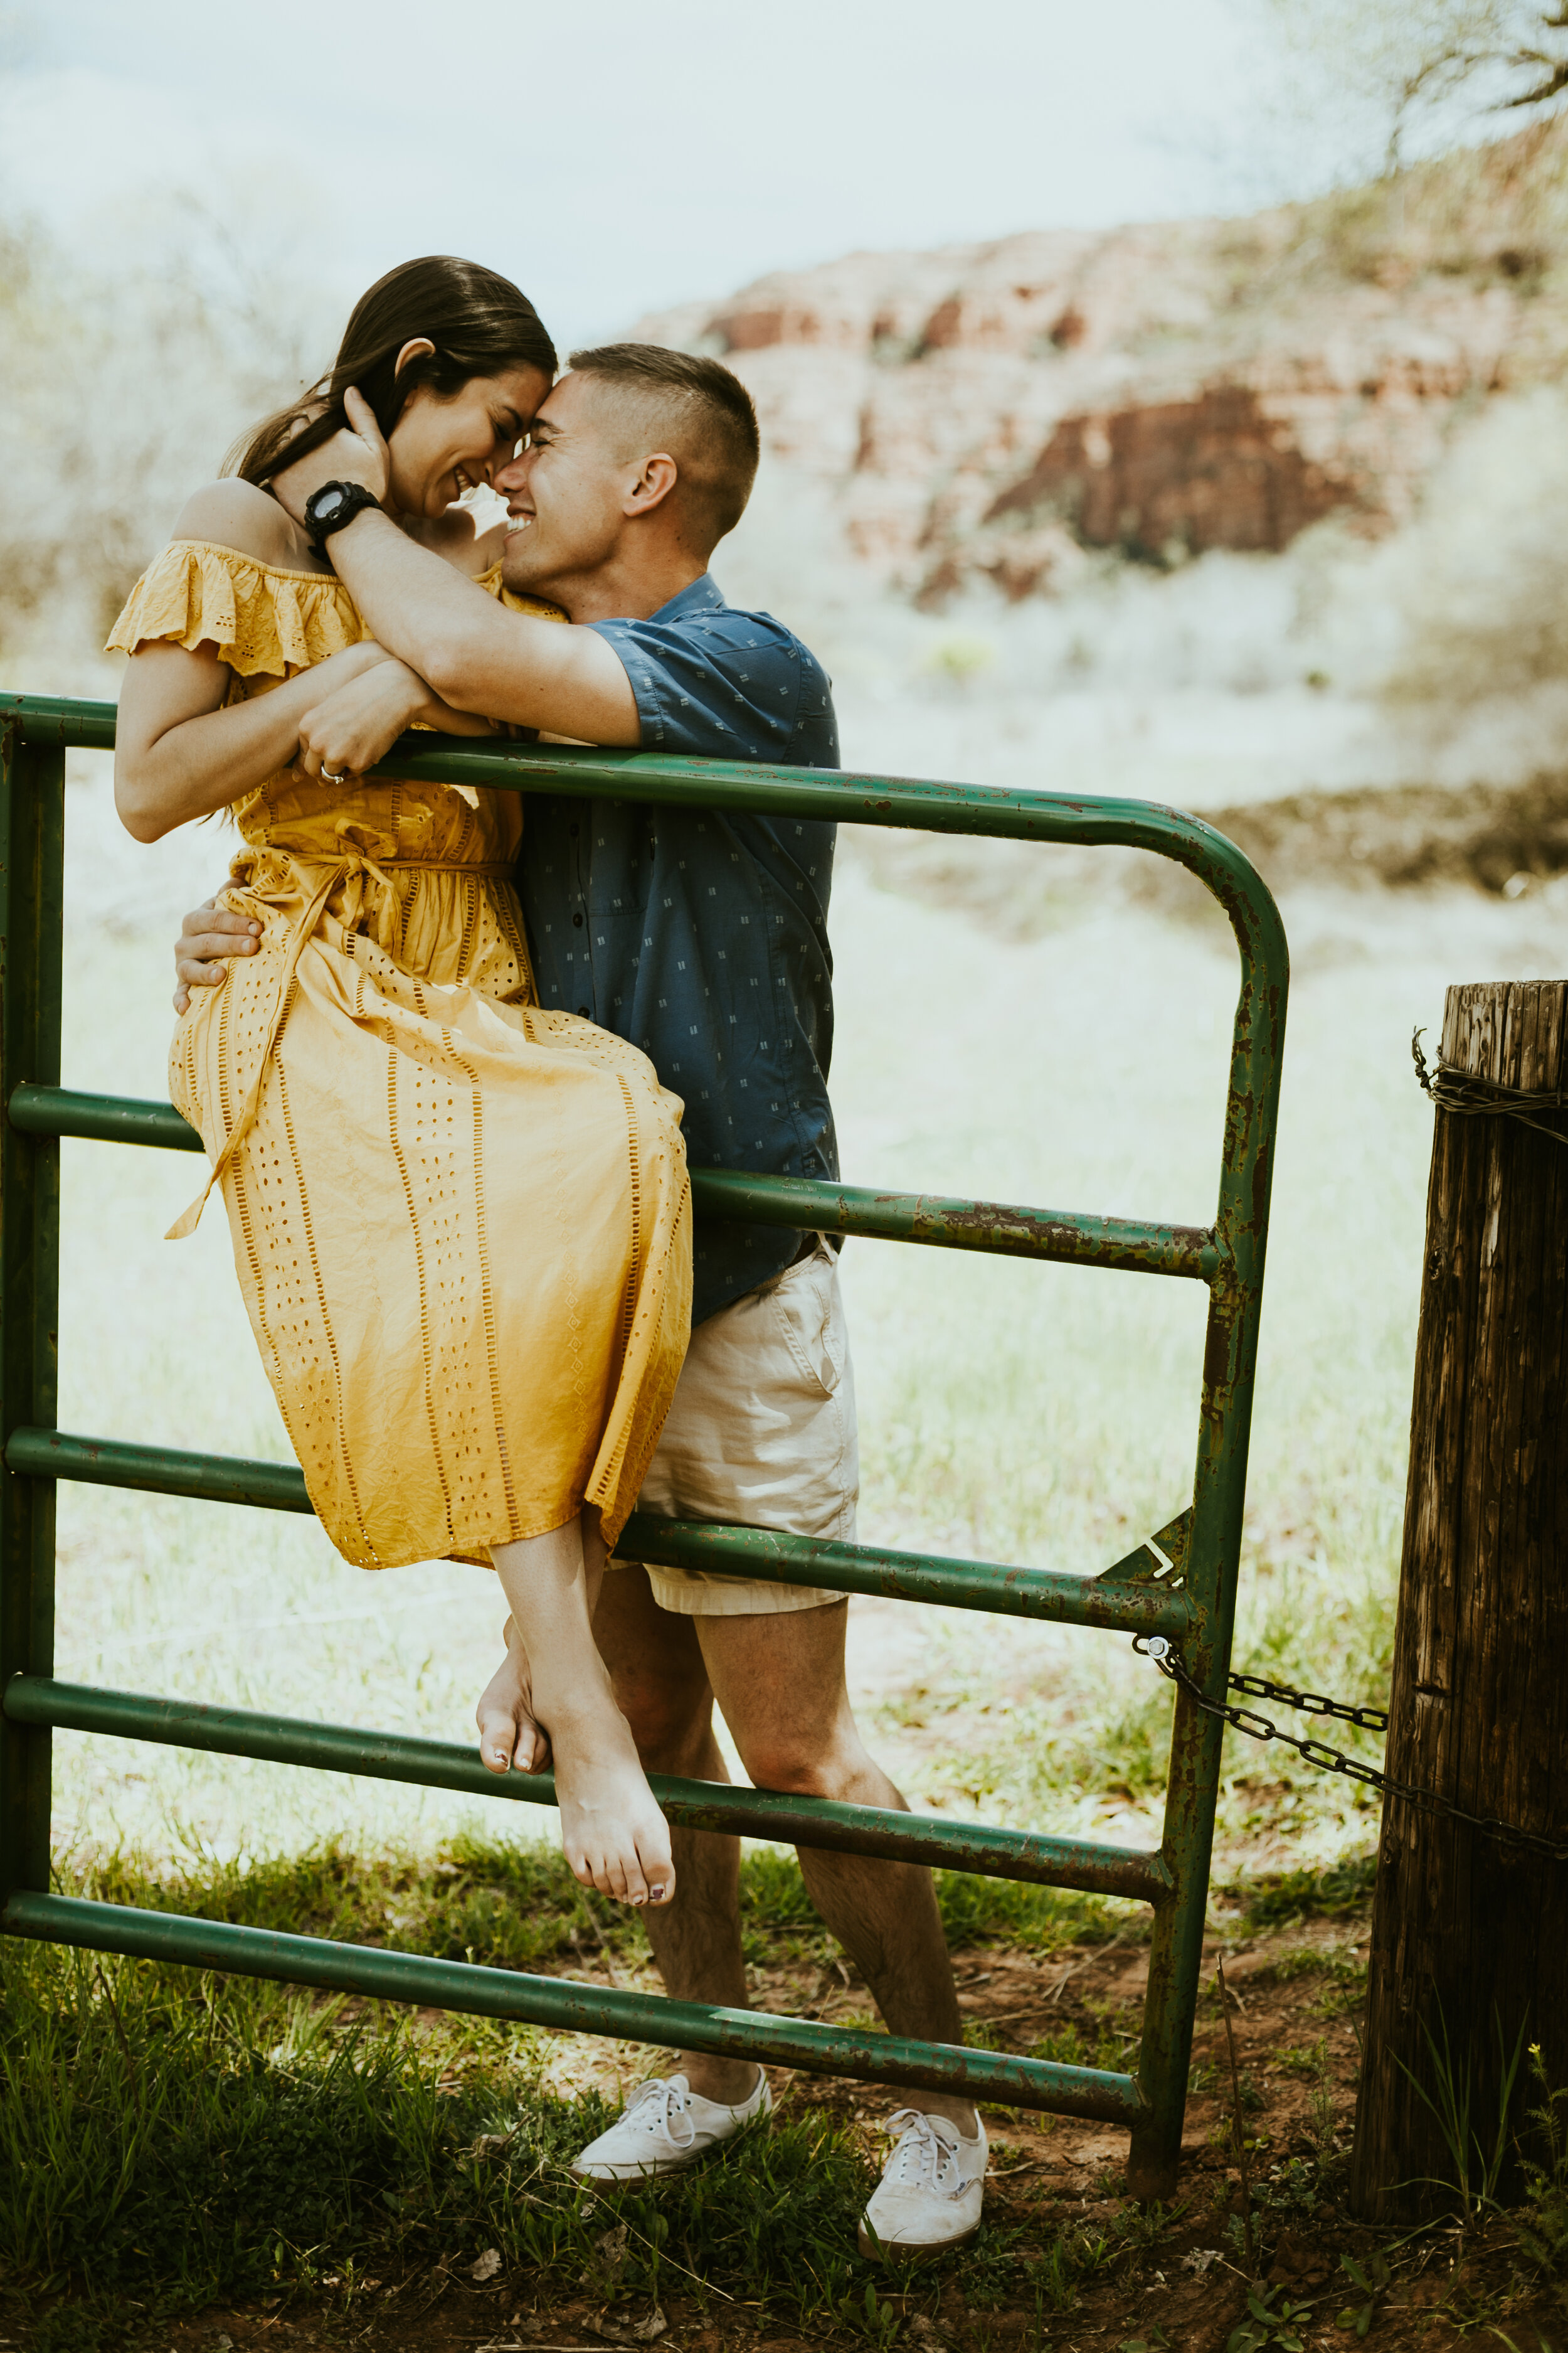
[(785, 2122), (741, 2162), (590, 2195), (567, 2162), (614, 2104), (543, 2089), (512, 2031), (430, 2040), (282, 1988), (33, 1948), (7, 1958), (5, 2061), (5, 2259), (35, 2294), (348, 2304), (369, 2273), (484, 2247), (559, 2285), (604, 2268), (621, 2221), (614, 2294), (658, 2294), (672, 2268), (797, 2311), (863, 2287), (870, 2169), (839, 2129)]

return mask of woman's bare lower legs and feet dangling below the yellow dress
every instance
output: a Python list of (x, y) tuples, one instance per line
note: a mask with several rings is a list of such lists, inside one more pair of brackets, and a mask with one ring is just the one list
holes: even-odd
[(583, 1525), (571, 1520), (522, 1544), (496, 1544), (491, 1560), (512, 1607), (512, 1631), (505, 1668), (484, 1694), (482, 1760), (505, 1772), (531, 1711), (555, 1751), (562, 1845), (576, 1878), (625, 1904), (668, 1904), (675, 1889), (670, 1826), (654, 1805), (592, 1638), (590, 1560), (595, 1586), (604, 1567), (597, 1529), (585, 1541)]

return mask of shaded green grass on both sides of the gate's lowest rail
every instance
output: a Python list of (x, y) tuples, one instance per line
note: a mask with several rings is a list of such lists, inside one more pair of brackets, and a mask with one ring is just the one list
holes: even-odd
[[(585, 1897), (545, 1847), (458, 1840), (435, 1861), (322, 1847), (162, 1875), (120, 1857), (71, 1885), (510, 1967), (569, 1955), (590, 1925), (623, 1965), (646, 1960), (635, 1925)], [(997, 1889), (987, 1913), (969, 1882), (938, 1880), (954, 1939), (1095, 1927), (1081, 1899)], [(743, 1901), (769, 1960), (811, 1918), (792, 1857), (748, 1857)], [(658, 2297), (661, 2282), (691, 2292), (696, 2275), (715, 2306), (741, 2299), (752, 2318), (879, 2341), (856, 2257), (872, 2169), (853, 2132), (792, 2113), (722, 2167), (590, 2193), (567, 2165), (616, 2104), (555, 2089), (550, 2054), (548, 2038), (501, 2021), (409, 2019), (242, 1977), (0, 1944), (0, 2278), (35, 2308), (68, 2289), (71, 2325), (101, 2322), (103, 2344), (120, 2344), (132, 2313), (146, 2327), (223, 2299), (308, 2294), (343, 2315), (378, 2280), (496, 2247), (541, 2287), (588, 2278), (616, 2304)], [(1060, 2054), (1077, 2057), (1077, 2038)], [(969, 2257), (969, 2292), (1016, 2292), (1025, 2252), (1037, 2259), (1039, 2245), (992, 2231)], [(1077, 2238), (1051, 2261), (1053, 2278), (1077, 2275)]]

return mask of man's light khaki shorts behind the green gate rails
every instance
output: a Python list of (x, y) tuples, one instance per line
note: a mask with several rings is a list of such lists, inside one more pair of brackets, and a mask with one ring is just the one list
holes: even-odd
[[(809, 1259), (733, 1299), (691, 1334), (637, 1511), (853, 1544), (858, 1494), (856, 1377), (839, 1261), (818, 1238)], [(649, 1567), (649, 1584), (658, 1607), (682, 1617), (755, 1617), (844, 1600), (816, 1586), (705, 1569)]]

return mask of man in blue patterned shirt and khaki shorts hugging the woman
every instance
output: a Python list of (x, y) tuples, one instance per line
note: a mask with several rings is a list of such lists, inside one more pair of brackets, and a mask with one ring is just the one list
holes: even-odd
[[(731, 612), (708, 558), (757, 471), (757, 416), (717, 360), (618, 344), (576, 353), (494, 478), (512, 534), (503, 581), (571, 626), (512, 612), (425, 548), (376, 499), (386, 452), (364, 402), (277, 480), (400, 656), (331, 696), (301, 736), (308, 772), (371, 767), (425, 682), (461, 711), (649, 751), (837, 767), (830, 682), (769, 614)], [(369, 499), (364, 494), (371, 494)], [(407, 666), (407, 668), (402, 668)], [(541, 1000), (639, 1045), (684, 1099), (693, 1167), (837, 1176), (827, 1104), (835, 828), (616, 800), (531, 798), (520, 894)], [(179, 974), (221, 979), (240, 918), (186, 918)], [(642, 1508), (853, 1537), (856, 1405), (837, 1261), (820, 1235), (696, 1226), (691, 1353)], [(595, 1638), (649, 1772), (724, 1781), (715, 1699), (762, 1788), (903, 1807), (865, 1753), (844, 1685), (846, 1600), (616, 1562)], [(541, 1753), (527, 1661), (480, 1701), (494, 1769)], [(677, 1899), (642, 1918), (677, 2000), (748, 2007), (736, 1838), (675, 1831)], [(893, 2033), (961, 2042), (931, 1875), (802, 1849), (832, 1934)], [(588, 2179), (675, 2172), (766, 2113), (750, 2061), (679, 2054), (576, 2162)], [(980, 2221), (985, 2132), (969, 2101), (926, 2094), (870, 2200), (860, 2245), (924, 2252)]]

